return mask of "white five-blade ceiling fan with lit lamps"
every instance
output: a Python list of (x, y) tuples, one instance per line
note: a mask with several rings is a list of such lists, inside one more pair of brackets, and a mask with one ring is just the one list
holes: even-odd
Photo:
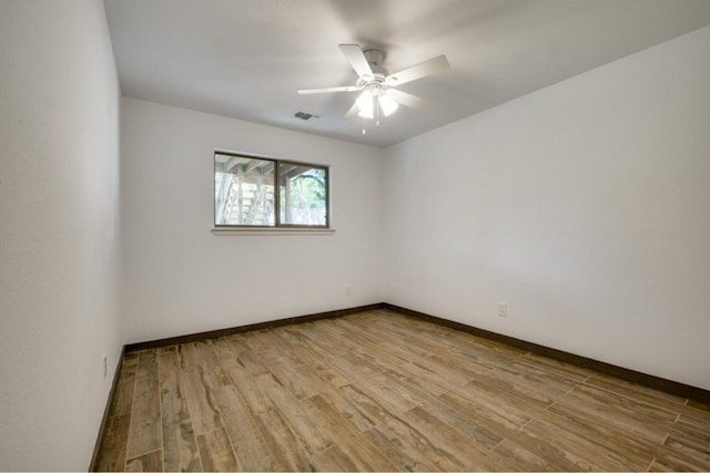
[[(424, 105), (424, 100), (396, 89), (398, 85), (416, 81), (436, 72), (446, 71), (449, 68), (444, 54), (420, 62), (410, 68), (389, 74), (382, 66), (385, 55), (377, 49), (364, 50), (357, 44), (341, 44), (341, 51), (357, 73), (355, 85), (344, 85), (325, 89), (301, 89), (302, 95), (332, 93), (332, 92), (361, 92), (355, 104), (345, 116), (359, 115), (365, 119), (375, 119), (379, 125), (381, 114), (388, 116), (397, 110), (399, 104), (418, 109)], [(363, 130), (364, 132), (364, 130)]]

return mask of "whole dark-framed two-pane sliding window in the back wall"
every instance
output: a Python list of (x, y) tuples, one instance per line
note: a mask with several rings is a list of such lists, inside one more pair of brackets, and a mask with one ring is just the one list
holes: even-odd
[(328, 228), (327, 166), (215, 152), (214, 225)]

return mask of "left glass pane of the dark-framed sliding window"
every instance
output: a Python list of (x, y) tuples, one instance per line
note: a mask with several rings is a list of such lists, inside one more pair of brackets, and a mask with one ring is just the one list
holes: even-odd
[(275, 225), (273, 161), (214, 155), (214, 224)]

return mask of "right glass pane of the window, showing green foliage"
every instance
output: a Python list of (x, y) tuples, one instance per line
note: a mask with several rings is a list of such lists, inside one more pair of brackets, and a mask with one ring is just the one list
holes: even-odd
[(327, 226), (327, 169), (278, 163), (282, 225)]

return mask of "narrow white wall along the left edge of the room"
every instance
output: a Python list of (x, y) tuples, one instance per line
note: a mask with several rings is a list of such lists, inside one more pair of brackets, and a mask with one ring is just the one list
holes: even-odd
[(0, 470), (85, 470), (122, 345), (103, 3), (2, 0), (0, 64)]

